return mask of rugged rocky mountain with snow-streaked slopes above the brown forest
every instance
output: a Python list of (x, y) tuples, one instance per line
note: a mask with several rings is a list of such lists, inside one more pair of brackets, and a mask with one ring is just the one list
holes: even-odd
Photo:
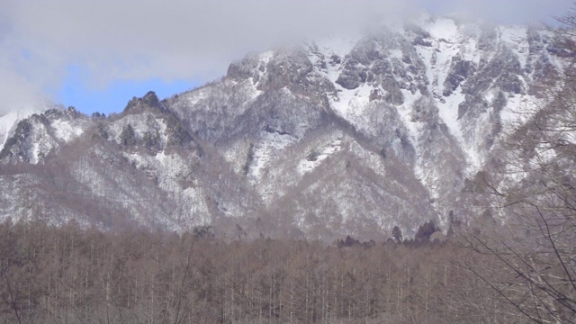
[(426, 16), (250, 54), (219, 82), (118, 115), (32, 115), (0, 147), (0, 217), (229, 237), (447, 230), (509, 121), (545, 104), (565, 65), (556, 44)]

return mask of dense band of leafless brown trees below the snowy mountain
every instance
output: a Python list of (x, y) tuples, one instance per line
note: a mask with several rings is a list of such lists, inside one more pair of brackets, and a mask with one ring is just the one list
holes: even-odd
[(455, 239), (332, 245), (210, 229), (0, 224), (2, 323), (518, 322)]

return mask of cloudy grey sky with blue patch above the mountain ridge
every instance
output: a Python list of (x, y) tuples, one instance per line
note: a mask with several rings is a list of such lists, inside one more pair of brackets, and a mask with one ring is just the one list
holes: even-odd
[(571, 0), (0, 0), (0, 116), (47, 103), (121, 112), (226, 74), (247, 52), (426, 10), (553, 23)]

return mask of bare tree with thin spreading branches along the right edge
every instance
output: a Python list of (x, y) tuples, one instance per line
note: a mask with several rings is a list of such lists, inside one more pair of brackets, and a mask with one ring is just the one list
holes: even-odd
[(561, 78), (546, 84), (546, 103), (527, 112), (479, 175), (491, 208), (482, 229), (466, 243), (489, 257), (490, 268), (464, 263), (536, 323), (576, 318), (576, 11), (558, 19), (556, 55), (566, 59)]

